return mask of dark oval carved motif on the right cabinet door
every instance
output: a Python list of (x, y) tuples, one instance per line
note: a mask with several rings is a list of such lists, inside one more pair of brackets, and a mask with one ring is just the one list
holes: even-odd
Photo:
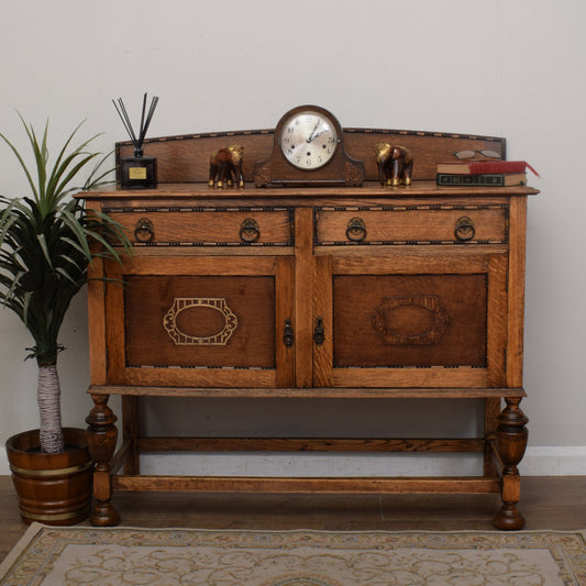
[(385, 344), (436, 344), (450, 320), (434, 295), (386, 297), (373, 316), (373, 327)]

